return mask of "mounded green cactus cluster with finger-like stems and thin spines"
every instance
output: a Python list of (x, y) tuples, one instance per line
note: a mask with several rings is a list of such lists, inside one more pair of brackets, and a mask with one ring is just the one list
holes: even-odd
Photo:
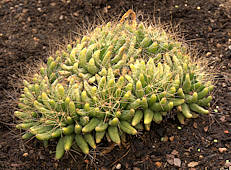
[(120, 144), (165, 116), (184, 123), (209, 113), (213, 85), (186, 48), (163, 30), (124, 22), (129, 13), (57, 51), (24, 80), (15, 112), (23, 139), (57, 138), (60, 159), (74, 141), (88, 154), (104, 137)]

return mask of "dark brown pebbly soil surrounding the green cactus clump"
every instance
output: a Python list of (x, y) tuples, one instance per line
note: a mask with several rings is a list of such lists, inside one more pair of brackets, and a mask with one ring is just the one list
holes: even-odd
[[(55, 145), (22, 141), (13, 112), (30, 74), (49, 54), (84, 29), (119, 19), (170, 25), (209, 60), (216, 78), (211, 114), (180, 125), (169, 119), (126, 146), (102, 143), (84, 156), (70, 151), (54, 160)], [(142, 15), (139, 15), (142, 14)], [(177, 28), (177, 29), (175, 29)], [(1, 0), (0, 169), (225, 169), (231, 167), (231, 2), (229, 0)]]

